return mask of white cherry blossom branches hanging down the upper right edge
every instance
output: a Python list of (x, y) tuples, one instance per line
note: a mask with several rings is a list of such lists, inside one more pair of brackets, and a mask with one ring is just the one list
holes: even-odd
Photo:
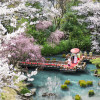
[(79, 6), (72, 7), (78, 11), (77, 15), (85, 16), (81, 22), (89, 23), (88, 27), (91, 30), (92, 50), (100, 53), (100, 2), (93, 0), (81, 0)]

